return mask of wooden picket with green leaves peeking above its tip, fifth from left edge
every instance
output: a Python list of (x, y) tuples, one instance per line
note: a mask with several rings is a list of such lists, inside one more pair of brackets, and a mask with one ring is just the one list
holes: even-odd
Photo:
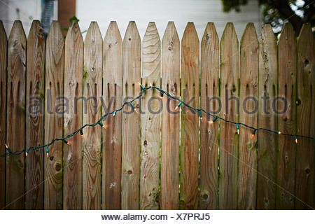
[[(82, 127), (83, 38), (78, 22), (72, 22), (64, 44), (64, 136)], [(64, 209), (82, 209), (82, 138), (76, 134), (64, 145)], [(67, 140), (67, 141), (68, 141)]]

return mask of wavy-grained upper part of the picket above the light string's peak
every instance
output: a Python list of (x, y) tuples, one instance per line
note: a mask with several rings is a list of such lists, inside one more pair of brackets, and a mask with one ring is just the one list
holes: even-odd
[[(151, 76), (151, 82), (158, 81), (158, 79), (160, 79), (161, 41), (155, 22), (149, 22), (148, 24), (146, 34), (144, 34), (142, 54), (143, 78)], [(157, 66), (159, 66), (159, 68), (157, 68)]]

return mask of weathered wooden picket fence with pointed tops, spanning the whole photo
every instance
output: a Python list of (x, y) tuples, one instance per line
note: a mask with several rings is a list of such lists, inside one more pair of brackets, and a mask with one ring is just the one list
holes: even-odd
[[(248, 23), (239, 42), (228, 23), (219, 41), (208, 23), (199, 41), (189, 22), (180, 42), (169, 22), (161, 42), (150, 22), (141, 42), (135, 22), (123, 40), (111, 22), (103, 41), (91, 22), (83, 41), (78, 23), (64, 39), (52, 22), (45, 39), (34, 20), (28, 37), (15, 21), (7, 40), (1, 23), (0, 155), (5, 143), (12, 151), (41, 146), (95, 123), (137, 97), (139, 81), (227, 120), (315, 137), (310, 25), (295, 37), (289, 23), (279, 41), (270, 25), (258, 38)], [(314, 209), (313, 140), (264, 131), (251, 138), (246, 127), (237, 134), (235, 124), (211, 124), (205, 114), (200, 123), (159, 97), (146, 91), (136, 112), (126, 106), (104, 129), (55, 142), (48, 157), (43, 148), (1, 158), (0, 208)]]

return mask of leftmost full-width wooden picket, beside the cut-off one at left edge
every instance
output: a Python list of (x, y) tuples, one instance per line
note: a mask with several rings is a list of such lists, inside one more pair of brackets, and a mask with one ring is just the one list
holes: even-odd
[[(25, 148), (25, 72), (27, 39), (15, 20), (8, 38), (6, 144), (11, 151)], [(18, 137), (18, 139), (16, 139)], [(25, 154), (6, 158), (6, 209), (25, 209)]]

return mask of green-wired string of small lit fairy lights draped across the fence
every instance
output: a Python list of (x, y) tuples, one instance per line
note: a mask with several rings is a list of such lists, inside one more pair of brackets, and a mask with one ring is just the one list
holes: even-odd
[(283, 133), (281, 131), (277, 131), (277, 130), (269, 130), (267, 128), (262, 128), (262, 127), (251, 127), (249, 125), (246, 125), (244, 123), (237, 123), (235, 121), (232, 121), (232, 120), (226, 120), (225, 118), (221, 118), (220, 116), (217, 116), (217, 115), (214, 115), (214, 114), (211, 114), (207, 111), (205, 111), (204, 109), (199, 109), (199, 108), (195, 108), (193, 106), (190, 106), (189, 104), (186, 104), (186, 102), (183, 102), (183, 100), (177, 98), (177, 97), (174, 97), (172, 96), (171, 94), (169, 94), (169, 92), (165, 91), (165, 90), (162, 90), (161, 88), (159, 87), (156, 87), (154, 85), (152, 85), (152, 83), (148, 86), (148, 87), (144, 87), (144, 85), (142, 85), (141, 83), (139, 83), (140, 87), (141, 87), (141, 92), (140, 94), (135, 97), (134, 99), (130, 100), (129, 102), (125, 102), (123, 104), (123, 106), (120, 107), (120, 109), (116, 109), (114, 111), (111, 111), (109, 113), (106, 113), (104, 114), (104, 116), (102, 116), (101, 118), (99, 118), (99, 120), (97, 120), (96, 123), (92, 123), (92, 124), (86, 124), (86, 125), (83, 125), (82, 127), (80, 127), (78, 130), (76, 130), (75, 132), (72, 132), (71, 134), (68, 134), (66, 137), (63, 137), (63, 138), (58, 138), (58, 139), (52, 139), (52, 141), (50, 141), (50, 143), (48, 144), (45, 144), (43, 146), (31, 146), (29, 148), (25, 148), (25, 149), (22, 149), (22, 150), (18, 150), (18, 151), (11, 151), (10, 148), (8, 147), (7, 144), (6, 145), (6, 153), (4, 153), (3, 155), (0, 155), (0, 158), (5, 158), (9, 155), (20, 155), (22, 153), (25, 153), (25, 155), (27, 156), (29, 151), (34, 151), (34, 150), (38, 150), (38, 149), (41, 149), (41, 148), (45, 148), (45, 153), (48, 157), (49, 155), (49, 146), (51, 146), (52, 144), (54, 144), (55, 141), (63, 141), (64, 144), (68, 144), (70, 145), (71, 142), (70, 141), (67, 141), (66, 139), (69, 139), (71, 137), (73, 137), (74, 135), (80, 133), (80, 135), (83, 137), (83, 129), (85, 127), (95, 127), (97, 125), (99, 125), (100, 127), (103, 127), (105, 128), (104, 124), (102, 123), (102, 120), (104, 120), (104, 118), (106, 118), (106, 116), (110, 116), (112, 115), (113, 117), (116, 116), (116, 113), (123, 110), (123, 108), (126, 106), (126, 105), (130, 105), (132, 107), (132, 109), (134, 109), (134, 111), (137, 111), (136, 109), (136, 106), (134, 106), (133, 102), (137, 99), (139, 99), (143, 94), (144, 92), (150, 90), (151, 88), (154, 88), (155, 90), (158, 90), (160, 91), (160, 96), (161, 98), (164, 97), (164, 94), (167, 95), (167, 97), (170, 97), (172, 99), (175, 99), (176, 101), (179, 102), (179, 104), (177, 104), (175, 110), (179, 109), (179, 107), (181, 107), (181, 105), (183, 104), (184, 106), (188, 107), (189, 109), (192, 109), (193, 111), (196, 111), (197, 113), (199, 113), (199, 117), (200, 117), (200, 120), (202, 121), (202, 113), (205, 113), (207, 114), (208, 116), (211, 116), (213, 119), (209, 121), (210, 124), (213, 124), (216, 122), (216, 120), (222, 120), (226, 123), (232, 123), (232, 124), (235, 124), (236, 125), (236, 129), (237, 129), (237, 134), (239, 134), (239, 127), (242, 125), (244, 127), (247, 127), (251, 130), (253, 130), (252, 134), (251, 134), (251, 137), (255, 137), (255, 134), (257, 131), (259, 130), (262, 130), (262, 131), (266, 131), (266, 132), (272, 132), (274, 134), (279, 134), (279, 135), (283, 135), (283, 136), (288, 136), (288, 137), (293, 137), (295, 143), (297, 144), (297, 138), (305, 138), (305, 139), (311, 139), (311, 140), (314, 140), (315, 141), (315, 138), (314, 137), (309, 137), (309, 136), (305, 136), (305, 135), (300, 135), (300, 134), (288, 134), (288, 133)]

